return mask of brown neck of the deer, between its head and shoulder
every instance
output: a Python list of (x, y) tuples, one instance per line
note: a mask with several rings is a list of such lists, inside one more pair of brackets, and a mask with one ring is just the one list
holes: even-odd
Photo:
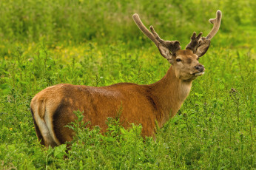
[(181, 108), (183, 101), (189, 95), (192, 81), (183, 81), (176, 78), (175, 69), (171, 66), (164, 78), (149, 86), (151, 86), (152, 95), (154, 95), (158, 106), (161, 108), (161, 113), (156, 118), (158, 125), (162, 127)]

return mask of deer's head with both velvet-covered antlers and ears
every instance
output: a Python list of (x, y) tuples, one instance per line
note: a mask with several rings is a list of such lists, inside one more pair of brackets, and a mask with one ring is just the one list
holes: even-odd
[(138, 25), (142, 33), (151, 39), (156, 47), (158, 47), (161, 55), (166, 58), (175, 69), (175, 76), (183, 81), (192, 81), (204, 73), (204, 67), (198, 62), (209, 48), (210, 40), (215, 36), (220, 28), (221, 12), (216, 13), (216, 18), (210, 19), (209, 22), (214, 24), (212, 31), (205, 37), (202, 32), (196, 35), (194, 32), (190, 43), (186, 46), (186, 50), (181, 50), (179, 41), (165, 41), (161, 39), (154, 28), (150, 26), (151, 32), (146, 29), (138, 14), (134, 14), (133, 19)]

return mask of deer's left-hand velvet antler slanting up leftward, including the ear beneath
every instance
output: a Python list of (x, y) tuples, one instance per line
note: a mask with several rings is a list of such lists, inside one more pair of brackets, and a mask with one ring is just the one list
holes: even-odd
[(168, 55), (169, 51), (172, 53), (172, 55), (175, 55), (176, 51), (181, 50), (179, 41), (164, 41), (159, 37), (158, 33), (155, 32), (152, 26), (150, 26), (150, 30), (152, 33), (150, 33), (149, 30), (142, 23), (137, 13), (135, 13), (132, 18), (137, 24), (138, 28), (142, 31), (142, 33), (144, 33), (149, 39), (151, 39), (155, 43), (164, 58), (167, 58), (166, 55)]

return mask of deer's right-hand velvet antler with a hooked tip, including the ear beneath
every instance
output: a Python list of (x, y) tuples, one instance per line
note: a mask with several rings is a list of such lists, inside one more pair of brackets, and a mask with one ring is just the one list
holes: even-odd
[(213, 24), (213, 28), (211, 32), (205, 37), (201, 37), (202, 33), (199, 33), (197, 37), (195, 32), (193, 33), (191, 37), (190, 43), (186, 46), (186, 50), (192, 50), (194, 53), (196, 53), (199, 57), (205, 54), (205, 52), (208, 50), (209, 45), (211, 43), (211, 39), (215, 36), (216, 33), (218, 33), (218, 30), (220, 29), (220, 21), (221, 21), (221, 11), (218, 10), (216, 12), (216, 18), (209, 19), (209, 22)]

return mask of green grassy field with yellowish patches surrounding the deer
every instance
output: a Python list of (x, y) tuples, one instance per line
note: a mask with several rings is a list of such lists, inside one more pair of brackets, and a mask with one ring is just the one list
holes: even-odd
[[(249, 0), (0, 1), (0, 169), (256, 169), (255, 8)], [(30, 101), (47, 86), (165, 75), (169, 63), (133, 13), (184, 49), (193, 31), (209, 33), (216, 10), (223, 19), (200, 61), (206, 72), (156, 140), (108, 120), (106, 136), (76, 123), (68, 154), (40, 145)]]

